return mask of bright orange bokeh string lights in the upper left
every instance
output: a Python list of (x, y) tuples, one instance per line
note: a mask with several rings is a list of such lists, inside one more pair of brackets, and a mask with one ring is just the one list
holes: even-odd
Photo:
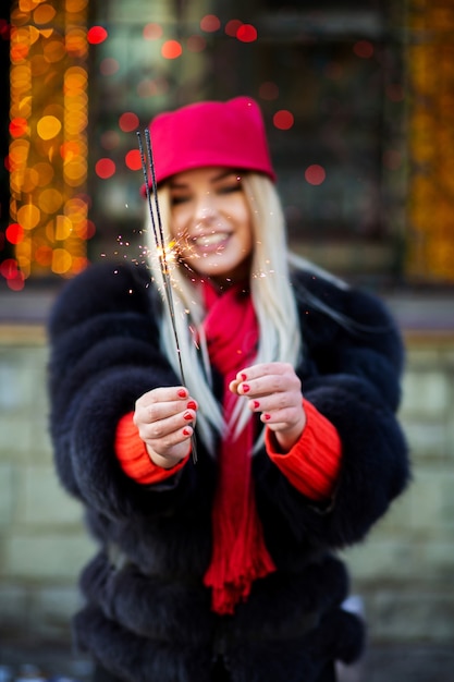
[[(10, 48), (11, 289), (86, 265), (88, 0), (13, 2)], [(100, 34), (97, 34), (98, 36)], [(42, 97), (42, 93), (51, 97)]]

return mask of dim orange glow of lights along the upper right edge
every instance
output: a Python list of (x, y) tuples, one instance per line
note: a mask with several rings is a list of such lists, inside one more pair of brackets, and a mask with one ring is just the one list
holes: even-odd
[(454, 281), (454, 7), (413, 0), (408, 46), (407, 275)]

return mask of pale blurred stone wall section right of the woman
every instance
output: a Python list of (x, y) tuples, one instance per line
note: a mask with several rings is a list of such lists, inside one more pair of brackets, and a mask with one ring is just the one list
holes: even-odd
[(401, 423), (412, 452), (404, 496), (345, 557), (370, 636), (454, 637), (454, 336), (408, 334)]

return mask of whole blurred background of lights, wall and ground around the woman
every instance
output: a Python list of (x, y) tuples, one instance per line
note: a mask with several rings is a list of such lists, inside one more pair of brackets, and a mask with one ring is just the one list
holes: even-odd
[(453, 0), (2, 0), (0, 85), (0, 679), (87, 673), (70, 618), (94, 547), (52, 466), (49, 307), (88, 263), (143, 259), (136, 131), (251, 95), (292, 248), (381, 295), (407, 346), (414, 479), (345, 552), (370, 650), (343, 674), (452, 682)]

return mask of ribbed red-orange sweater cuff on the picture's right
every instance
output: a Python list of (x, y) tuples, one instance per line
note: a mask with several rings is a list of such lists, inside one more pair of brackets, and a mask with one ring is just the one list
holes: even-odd
[(293, 448), (282, 454), (267, 428), (265, 443), (271, 461), (289, 482), (312, 500), (331, 497), (341, 468), (342, 443), (338, 429), (310, 402), (303, 399), (306, 426)]

